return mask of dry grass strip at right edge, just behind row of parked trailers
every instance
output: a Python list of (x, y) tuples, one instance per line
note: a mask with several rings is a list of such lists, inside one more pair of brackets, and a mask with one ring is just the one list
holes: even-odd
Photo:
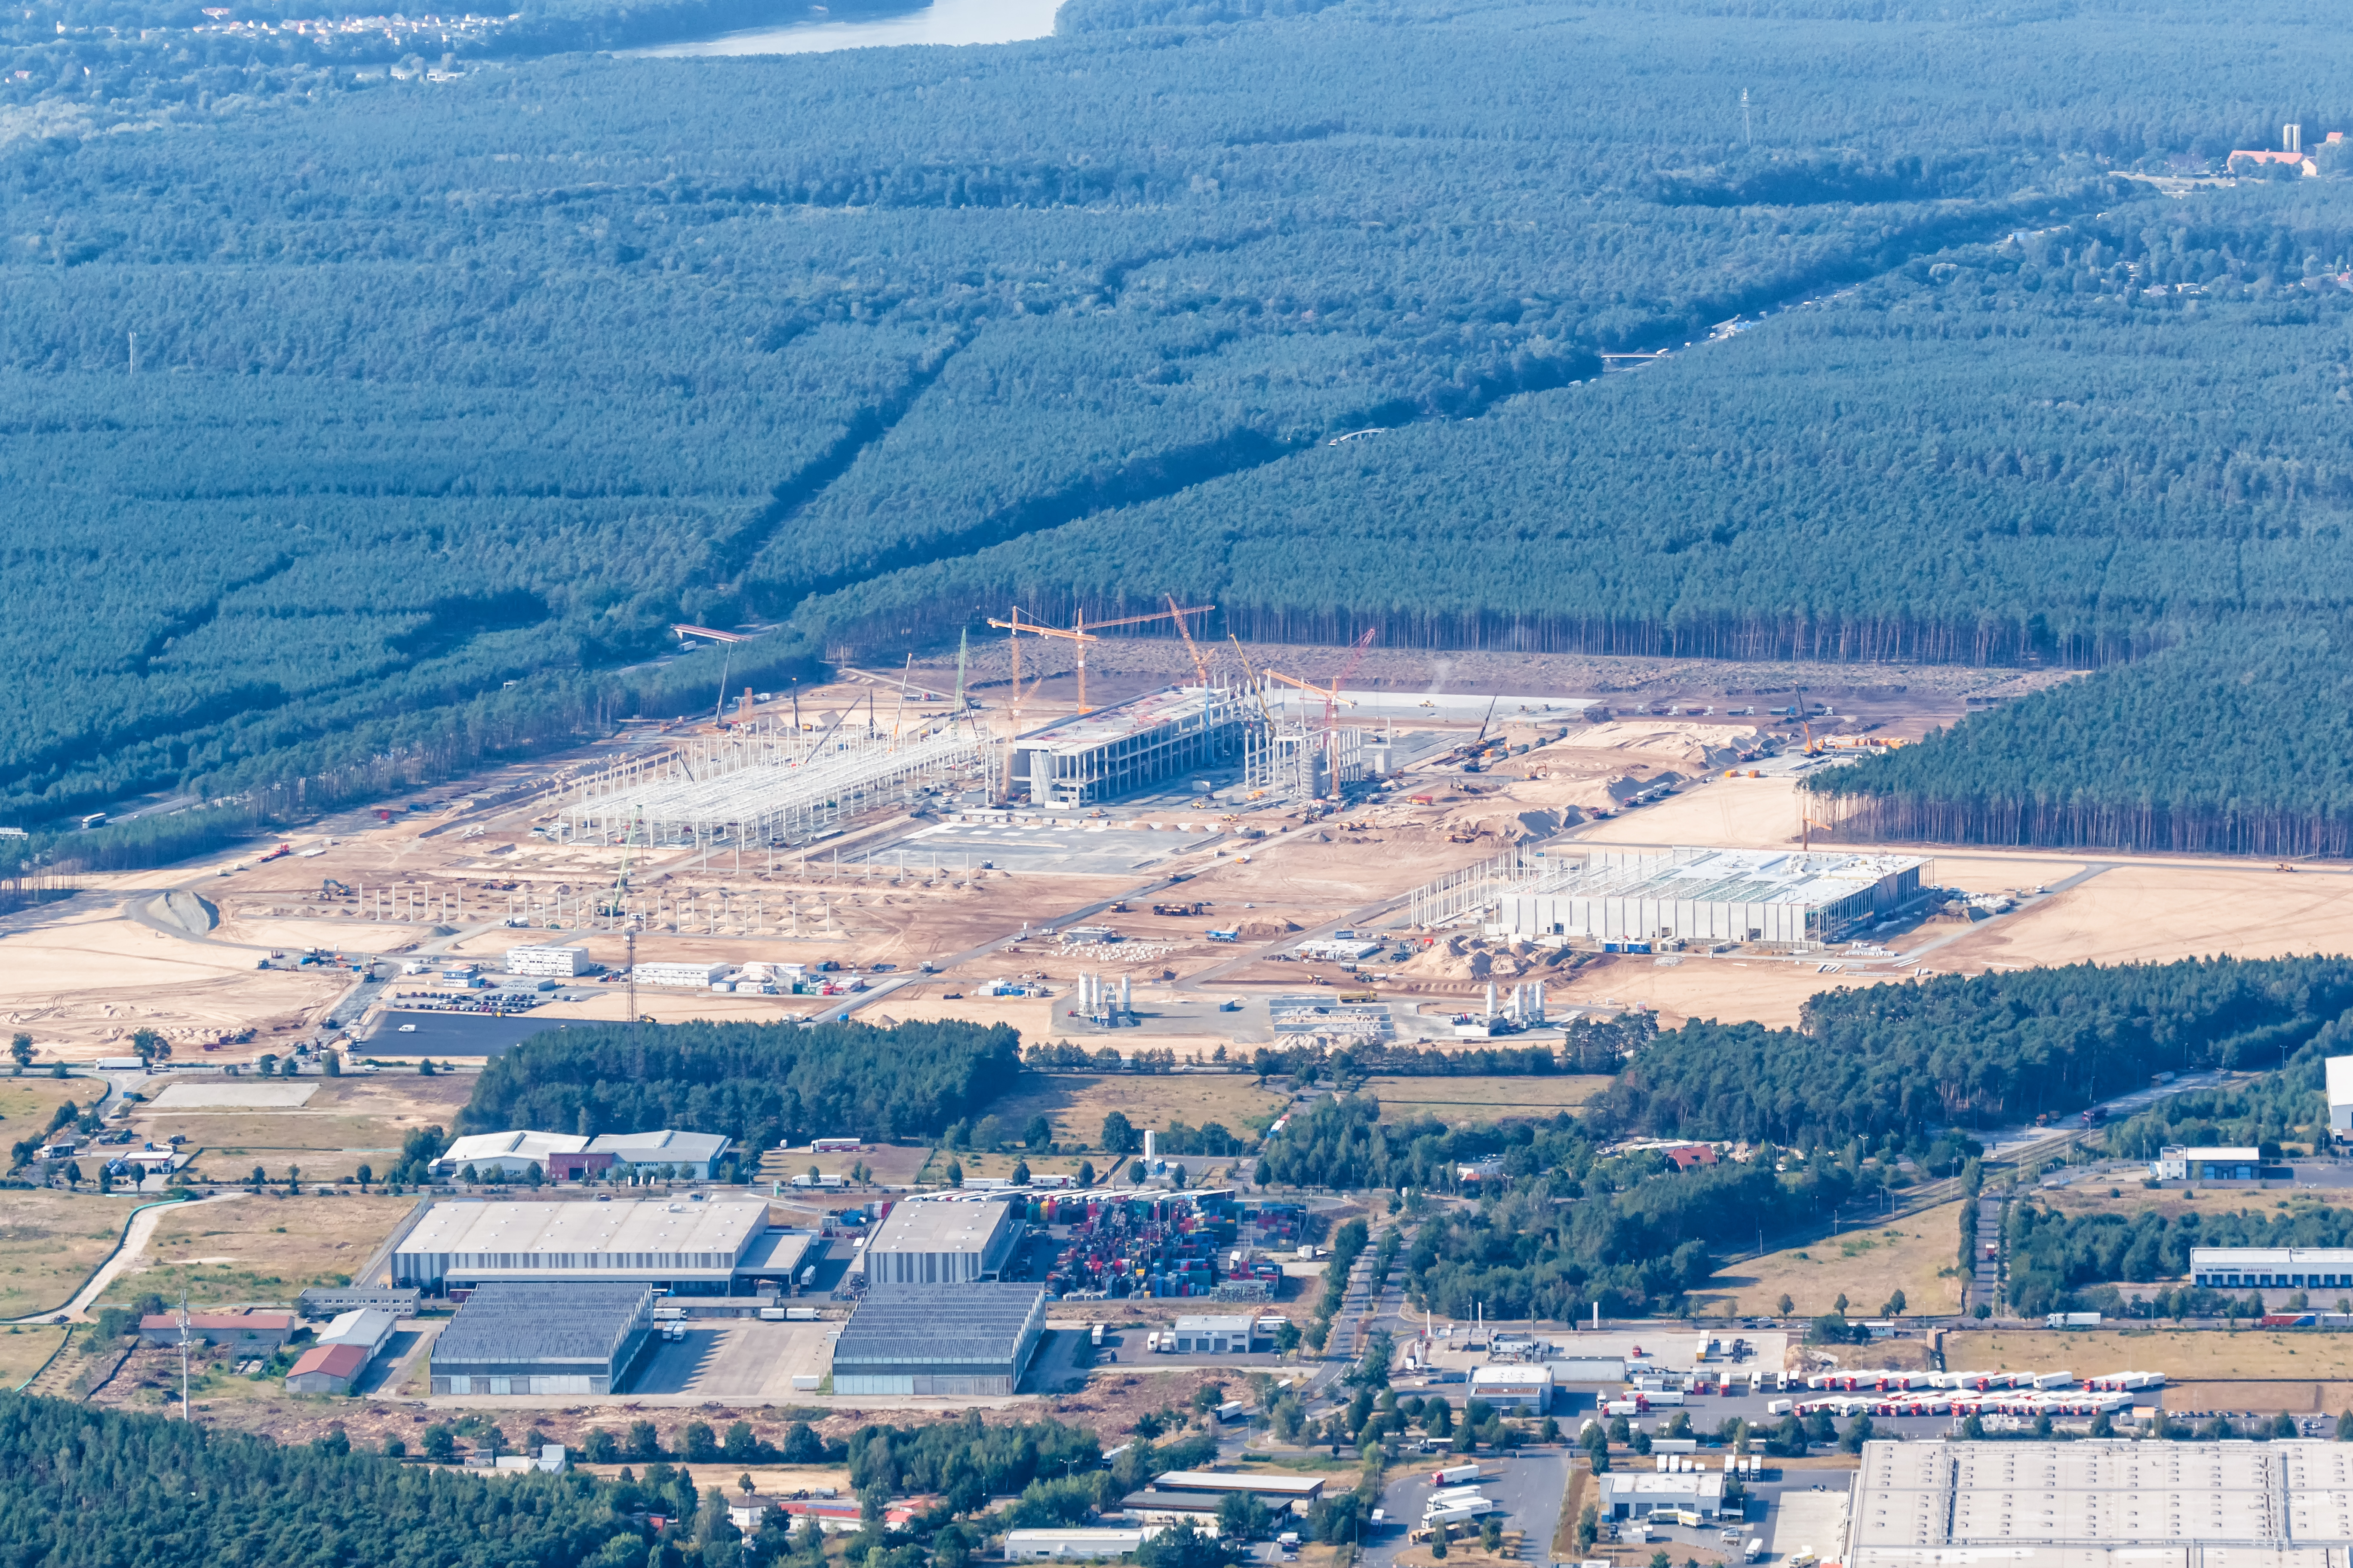
[[(2353, 1335), (2247, 1328), (1958, 1331), (1944, 1335), (1953, 1371), (2165, 1373), (2169, 1382), (2240, 1378), (2353, 1380)], [(2167, 1399), (2172, 1403), (2172, 1399)]]

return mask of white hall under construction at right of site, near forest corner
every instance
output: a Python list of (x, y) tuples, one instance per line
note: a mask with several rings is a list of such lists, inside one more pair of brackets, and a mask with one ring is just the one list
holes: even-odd
[(1786, 849), (1598, 849), (1497, 896), (1489, 931), (1595, 943), (1828, 943), (1920, 898), (1915, 856)]

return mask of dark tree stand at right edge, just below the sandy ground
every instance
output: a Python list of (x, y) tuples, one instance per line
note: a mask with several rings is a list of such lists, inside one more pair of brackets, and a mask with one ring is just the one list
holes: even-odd
[(2353, 1009), (2353, 959), (1934, 976), (1809, 997), (1795, 1030), (1694, 1020), (1586, 1107), (1602, 1128), (1791, 1145), (2071, 1117), (2153, 1072), (2271, 1067)]

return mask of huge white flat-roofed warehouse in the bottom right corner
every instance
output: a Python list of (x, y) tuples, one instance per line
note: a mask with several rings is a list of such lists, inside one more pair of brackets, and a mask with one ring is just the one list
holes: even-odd
[[(1831, 1554), (1824, 1542), (1821, 1554)], [(1847, 1568), (2344, 1568), (2353, 1443), (1864, 1443)]]

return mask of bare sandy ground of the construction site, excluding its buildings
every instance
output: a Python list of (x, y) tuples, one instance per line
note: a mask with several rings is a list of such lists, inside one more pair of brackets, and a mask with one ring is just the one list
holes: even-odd
[[(1118, 698), (1122, 686), (1174, 677), (1158, 668), (1162, 654), (1144, 642), (1111, 644), (1092, 696)], [(1184, 795), (1179, 778), (1165, 785), (1174, 792), (1113, 802), (1099, 816), (974, 816), (962, 806), (979, 795), (934, 799), (922, 813), (894, 802), (793, 851), (553, 837), (581, 778), (619, 757), (659, 755), (694, 731), (638, 726), (306, 823), (285, 835), (282, 853), (278, 839), (256, 839), (167, 870), (78, 877), (71, 896), (0, 917), (0, 1016), (33, 1037), (40, 1063), (122, 1056), (139, 1030), (162, 1034), (179, 1065), (249, 1065), (296, 1041), (346, 1034), (355, 1034), (351, 1053), (379, 1060), (461, 1056), (447, 1032), (428, 1044), (419, 1030), (412, 1041), (386, 1018), (438, 1016), (461, 999), (442, 966), (496, 971), (518, 945), (579, 945), (595, 964), (621, 969), (631, 950), (612, 905), (624, 877), (640, 964), (835, 964), (866, 985), (842, 997), (640, 985), (638, 1011), (654, 1020), (972, 1018), (1009, 1023), (1031, 1041), (1179, 1058), (1198, 1051), (1205, 1060), (1219, 1046), (1247, 1056), (1278, 1044), (1268, 1001), (1315, 987), (1377, 992), (1393, 1006), (1400, 1039), (1449, 1041), (1452, 1016), (1482, 1006), (1489, 980), (1544, 978), (1555, 1016), (1654, 1009), (1664, 1025), (1788, 1025), (1821, 990), (1918, 971), (2353, 950), (2353, 867), (2280, 872), (2266, 863), (1984, 849), (1918, 853), (1934, 860), (1929, 882), (2012, 891), (2019, 907), (1995, 919), (1927, 919), (1882, 938), (1889, 954), (1868, 959), (1513, 952), (1480, 938), (1475, 922), (1424, 945), (1426, 933), (1407, 929), (1412, 891), (1513, 846), (1534, 844), (1546, 856), (1586, 846), (1788, 849), (1807, 825), (1793, 776), (1802, 759), (1786, 724), (1727, 712), (1784, 701), (1753, 693), (1788, 691), (1791, 670), (1414, 658), (1421, 663), (1393, 656), (1379, 672), (1367, 663), (1351, 689), (1435, 691), (1400, 708), (1407, 717), (1365, 719), (1421, 736), (1419, 750), (1407, 757), (1400, 743), (1407, 762), (1393, 790), (1320, 820)], [(1311, 668), (1304, 654), (1294, 663)], [(1482, 701), (1461, 696), (1466, 672), (1508, 679), (1499, 679), (1501, 696)], [(1824, 672), (1795, 675), (1824, 682), (1807, 689), (1833, 698), (1835, 719), (1819, 724), (1842, 743), (1901, 741), (1998, 686), (1988, 672), (1962, 682), (1911, 670), (1899, 672), (1911, 679), (1861, 682), (1849, 670), (1842, 689)], [(925, 677), (939, 672), (918, 672)], [(1555, 682), (1551, 696), (1539, 689), (1546, 679)], [(984, 703), (1007, 701), (988, 686), (986, 661), (972, 682)], [(1042, 693), (1024, 696), (1021, 715), (984, 705), (979, 722), (1035, 726), (1071, 708), (1054, 691), (1049, 677)], [(849, 672), (802, 691), (798, 712), (812, 726), (871, 717), (887, 733), (946, 710), (925, 696), (915, 689), (901, 703), (896, 677)], [(1673, 701), (1654, 701), (1661, 696)], [(1367, 698), (1379, 701), (1391, 698)], [(781, 703), (772, 708), (781, 712)], [(1447, 748), (1497, 729), (1511, 731), (1513, 752), (1487, 771), (1445, 759)], [(1734, 759), (1746, 762), (1734, 769)], [(1184, 912), (1155, 914), (1155, 900)], [(1122, 940), (1071, 943), (1059, 933), (1071, 924), (1113, 926)], [(1212, 940), (1212, 929), (1238, 940)], [(1355, 969), (1285, 961), (1289, 947), (1332, 929), (1362, 929), (1398, 947)], [(400, 973), (412, 964), (426, 973)], [(1080, 973), (1113, 985), (1127, 978), (1141, 1027), (1106, 1032), (1073, 1018)], [(995, 980), (1049, 994), (986, 994)], [(628, 1016), (626, 990), (600, 976), (529, 1001), (532, 1023)]]

